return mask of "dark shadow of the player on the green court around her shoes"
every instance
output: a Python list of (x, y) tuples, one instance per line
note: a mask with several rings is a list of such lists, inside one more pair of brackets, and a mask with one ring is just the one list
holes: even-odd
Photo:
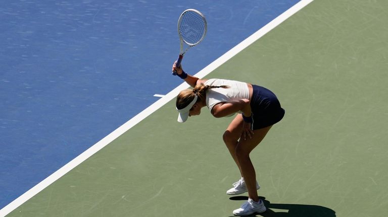
[[(252, 214), (250, 217), (261, 215), (264, 217), (335, 217), (335, 211), (318, 205), (270, 203), (265, 197), (260, 197), (267, 207), (267, 211)], [(248, 200), (247, 196), (230, 197), (231, 200)], [(276, 211), (272, 210), (276, 209)]]

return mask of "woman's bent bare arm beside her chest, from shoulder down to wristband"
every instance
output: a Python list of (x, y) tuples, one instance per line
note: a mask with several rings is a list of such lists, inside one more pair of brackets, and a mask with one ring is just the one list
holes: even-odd
[(249, 99), (241, 99), (232, 102), (222, 102), (215, 105), (211, 111), (214, 117), (225, 117), (238, 111), (243, 112), (243, 115), (250, 117), (251, 101)]

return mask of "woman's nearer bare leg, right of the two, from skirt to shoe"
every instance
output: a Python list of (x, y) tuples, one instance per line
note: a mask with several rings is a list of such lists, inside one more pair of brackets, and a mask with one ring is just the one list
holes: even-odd
[(249, 154), (263, 140), (271, 127), (272, 125), (254, 130), (255, 134), (252, 136), (252, 138), (247, 138), (246, 140), (240, 139), (235, 150), (235, 155), (237, 157), (241, 173), (243, 174), (245, 183), (247, 185), (249, 198), (255, 202), (259, 201), (256, 189), (256, 172)]

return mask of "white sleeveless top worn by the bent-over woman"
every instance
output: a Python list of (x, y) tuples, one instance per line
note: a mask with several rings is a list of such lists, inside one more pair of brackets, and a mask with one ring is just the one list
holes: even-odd
[[(224, 80), (209, 79), (204, 83), (209, 86), (229, 86), (229, 88), (213, 88), (206, 91), (206, 105), (212, 111), (213, 107), (221, 102), (231, 102), (240, 99), (249, 99), (249, 88), (247, 83)], [(232, 116), (233, 114), (229, 115)]]

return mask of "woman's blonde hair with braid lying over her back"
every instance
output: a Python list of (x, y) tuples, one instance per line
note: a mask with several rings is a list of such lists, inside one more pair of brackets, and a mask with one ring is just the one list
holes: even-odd
[[(212, 88), (229, 88), (229, 86), (222, 85), (222, 86), (209, 86), (209, 85), (204, 85), (203, 83), (200, 83), (196, 85), (194, 89), (186, 89), (181, 91), (178, 96), (176, 97), (176, 108), (177, 109), (183, 109), (185, 108), (188, 104), (194, 100), (196, 95), (198, 96), (197, 102), (205, 102), (206, 100), (206, 91)], [(196, 103), (197, 103), (196, 102)]]

